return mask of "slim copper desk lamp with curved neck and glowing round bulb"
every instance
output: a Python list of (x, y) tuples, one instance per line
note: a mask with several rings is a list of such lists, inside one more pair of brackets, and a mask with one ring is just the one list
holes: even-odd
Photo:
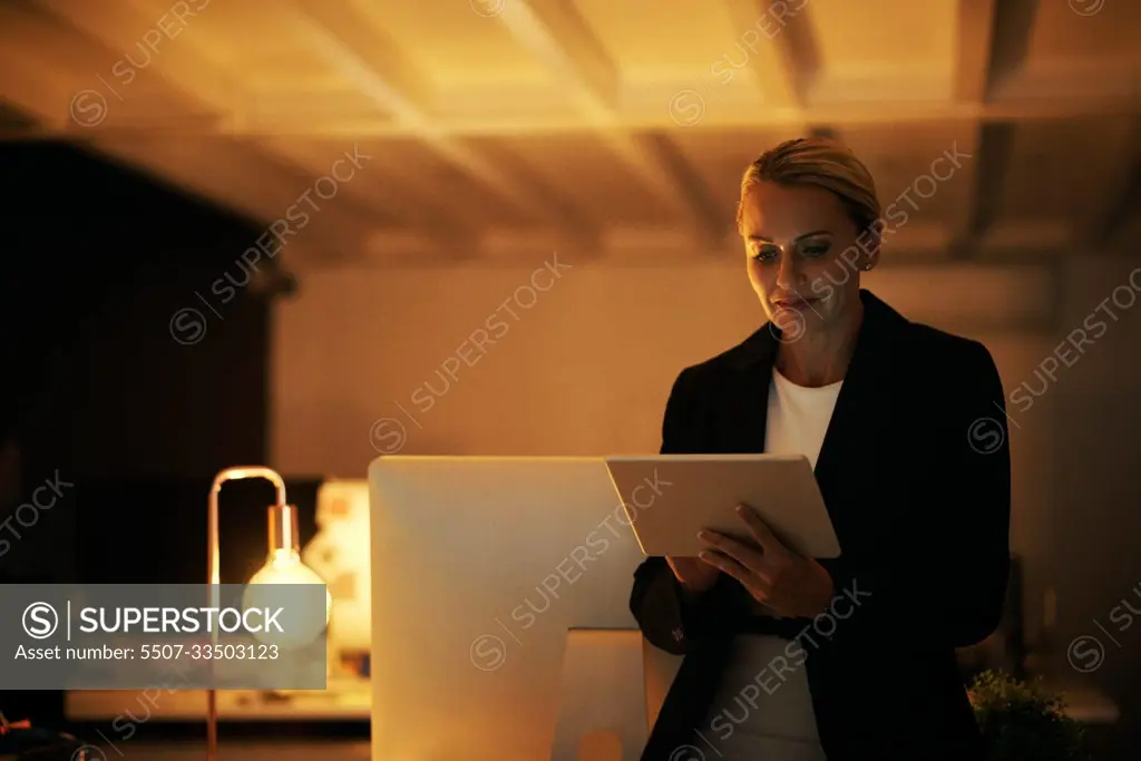
[[(297, 508), (285, 501), (285, 481), (269, 468), (262, 465), (242, 465), (227, 468), (215, 476), (210, 487), (210, 512), (207, 528), (207, 583), (210, 584), (210, 604), (219, 605), (220, 572), (218, 565), (218, 493), (222, 484), (245, 478), (264, 478), (277, 491), (276, 503), (269, 507), (269, 557), (266, 565), (250, 578), (250, 584), (324, 584), (325, 580), (301, 562), (301, 545), (298, 532)], [(248, 590), (249, 592), (249, 590)], [(329, 624), (329, 612), (332, 598), (325, 591), (325, 622)], [(311, 639), (324, 630), (318, 629)], [(217, 639), (217, 628), (211, 628), (213, 639)], [(304, 645), (307, 642), (296, 642)], [(218, 696), (211, 687), (207, 690), (207, 761), (218, 760)]]

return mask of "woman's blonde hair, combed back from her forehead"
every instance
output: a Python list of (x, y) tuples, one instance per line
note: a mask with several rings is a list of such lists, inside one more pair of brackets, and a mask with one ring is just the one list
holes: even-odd
[(745, 194), (761, 183), (815, 186), (831, 191), (844, 205), (858, 233), (877, 227), (882, 210), (872, 173), (856, 154), (832, 138), (802, 137), (787, 140), (766, 151), (750, 164), (741, 180), (738, 226)]

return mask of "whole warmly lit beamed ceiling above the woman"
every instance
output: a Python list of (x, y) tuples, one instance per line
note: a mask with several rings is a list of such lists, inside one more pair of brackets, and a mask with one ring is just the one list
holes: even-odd
[(745, 165), (830, 130), (907, 214), (885, 261), (1038, 261), (1136, 250), (1139, 39), (1136, 0), (8, 0), (0, 138), (310, 267), (707, 260)]

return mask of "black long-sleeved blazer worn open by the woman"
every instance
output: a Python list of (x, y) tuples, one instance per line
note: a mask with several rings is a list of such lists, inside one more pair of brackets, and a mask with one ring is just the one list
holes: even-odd
[[(954, 648), (997, 628), (1006, 591), (1002, 382), (981, 343), (912, 323), (866, 290), (860, 299), (864, 321), (816, 464), (841, 547), (820, 560), (835, 582), (835, 615), (753, 615), (747, 592), (723, 574), (693, 601), (664, 558), (645, 560), (630, 609), (647, 640), (686, 657), (642, 761), (718, 758), (731, 721), (706, 717), (729, 709), (739, 720), (747, 707), (712, 705), (744, 632), (790, 640), (787, 665), (807, 669), (830, 761), (984, 758)], [(766, 324), (683, 370), (662, 453), (763, 452), (779, 337)], [(760, 679), (779, 696), (772, 673)]]

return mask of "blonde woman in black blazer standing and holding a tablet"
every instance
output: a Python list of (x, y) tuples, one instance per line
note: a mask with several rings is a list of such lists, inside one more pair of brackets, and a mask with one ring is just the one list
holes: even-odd
[(798, 557), (743, 507), (754, 545), (703, 532), (701, 558), (638, 568), (644, 634), (686, 656), (642, 761), (981, 759), (954, 648), (996, 629), (1006, 589), (994, 361), (860, 289), (884, 226), (841, 145), (762, 155), (737, 221), (769, 322), (681, 372), (662, 452), (807, 455), (841, 554)]

